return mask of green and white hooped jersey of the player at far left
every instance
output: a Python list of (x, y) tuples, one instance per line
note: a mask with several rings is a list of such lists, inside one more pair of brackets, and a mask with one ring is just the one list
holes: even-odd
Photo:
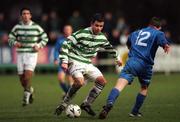
[(9, 45), (13, 46), (16, 42), (20, 42), (22, 47), (17, 48), (17, 52), (35, 53), (33, 46), (37, 44), (40, 48), (44, 47), (48, 42), (47, 34), (36, 23), (31, 21), (28, 25), (23, 22), (18, 23), (9, 33)]

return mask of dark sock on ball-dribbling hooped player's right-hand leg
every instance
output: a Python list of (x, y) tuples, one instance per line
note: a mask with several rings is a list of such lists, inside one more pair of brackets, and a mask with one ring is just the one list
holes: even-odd
[(104, 85), (96, 82), (95, 86), (90, 90), (89, 95), (84, 100), (84, 103), (87, 105), (91, 105), (95, 101), (95, 99), (100, 95), (103, 88)]

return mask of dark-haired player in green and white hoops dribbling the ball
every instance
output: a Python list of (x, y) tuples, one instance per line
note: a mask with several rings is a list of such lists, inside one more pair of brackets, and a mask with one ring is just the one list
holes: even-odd
[(97, 13), (92, 17), (90, 27), (73, 33), (63, 43), (61, 55), (59, 55), (62, 61), (61, 66), (65, 71), (68, 69), (74, 83), (63, 101), (56, 108), (56, 115), (60, 115), (66, 109), (73, 95), (85, 84), (84, 79), (86, 78), (95, 81), (95, 85), (80, 107), (89, 115), (96, 115), (91, 105), (99, 96), (107, 81), (100, 70), (91, 63), (91, 59), (96, 56), (100, 48), (104, 48), (112, 54), (118, 65), (122, 64), (116, 50), (113, 49), (105, 35), (101, 32), (103, 26), (104, 18), (101, 14)]

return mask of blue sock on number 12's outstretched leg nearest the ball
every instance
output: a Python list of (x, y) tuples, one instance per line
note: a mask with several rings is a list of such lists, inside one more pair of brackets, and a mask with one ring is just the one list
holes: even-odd
[(113, 88), (108, 96), (107, 104), (113, 105), (117, 97), (119, 96), (119, 94), (120, 94), (119, 90), (116, 88)]

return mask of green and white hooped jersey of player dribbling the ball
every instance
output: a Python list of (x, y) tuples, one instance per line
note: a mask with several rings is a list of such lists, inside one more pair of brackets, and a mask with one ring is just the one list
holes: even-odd
[(112, 54), (113, 58), (118, 60), (116, 50), (109, 43), (103, 33), (94, 35), (91, 27), (79, 30), (64, 41), (59, 55), (60, 60), (64, 63), (78, 61), (91, 63), (91, 58), (97, 55), (101, 49)]

